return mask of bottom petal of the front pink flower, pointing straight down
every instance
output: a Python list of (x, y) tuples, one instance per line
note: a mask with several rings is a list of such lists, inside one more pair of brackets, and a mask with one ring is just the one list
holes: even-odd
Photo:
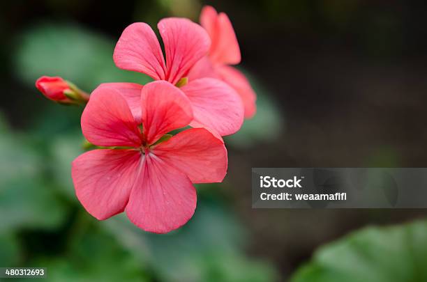
[(197, 196), (186, 175), (154, 155), (147, 155), (141, 187), (130, 193), (126, 214), (153, 233), (177, 229), (193, 217)]

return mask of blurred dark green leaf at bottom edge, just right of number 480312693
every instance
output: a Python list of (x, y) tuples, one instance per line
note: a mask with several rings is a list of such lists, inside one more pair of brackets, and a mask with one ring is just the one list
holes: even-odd
[(45, 281), (151, 281), (144, 265), (96, 226), (66, 256), (39, 258), (31, 267), (47, 267)]

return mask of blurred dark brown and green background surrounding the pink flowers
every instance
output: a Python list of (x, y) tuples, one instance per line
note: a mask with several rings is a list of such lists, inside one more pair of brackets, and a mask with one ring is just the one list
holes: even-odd
[[(82, 108), (34, 82), (144, 84), (112, 61), (121, 31), (198, 22), (204, 4), (232, 20), (258, 95), (226, 139), (227, 178), (199, 185), (195, 216), (167, 235), (96, 221), (70, 178)], [(253, 210), (250, 189), (252, 167), (426, 166), (426, 26), (425, 1), (2, 1), (0, 267), (48, 267), (50, 281), (427, 281), (427, 210)]]

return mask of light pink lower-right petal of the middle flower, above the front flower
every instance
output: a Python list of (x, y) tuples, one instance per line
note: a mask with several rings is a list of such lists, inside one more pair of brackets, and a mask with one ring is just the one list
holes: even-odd
[(197, 123), (215, 130), (221, 136), (233, 134), (240, 129), (244, 109), (239, 95), (233, 88), (219, 79), (202, 78), (183, 86), (193, 106)]

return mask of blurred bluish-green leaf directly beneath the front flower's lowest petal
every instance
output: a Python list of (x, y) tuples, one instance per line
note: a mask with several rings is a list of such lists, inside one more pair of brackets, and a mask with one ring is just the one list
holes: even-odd
[(160, 281), (275, 281), (271, 266), (245, 256), (243, 228), (218, 203), (198, 201), (193, 219), (164, 235), (145, 233), (123, 214), (102, 224)]

